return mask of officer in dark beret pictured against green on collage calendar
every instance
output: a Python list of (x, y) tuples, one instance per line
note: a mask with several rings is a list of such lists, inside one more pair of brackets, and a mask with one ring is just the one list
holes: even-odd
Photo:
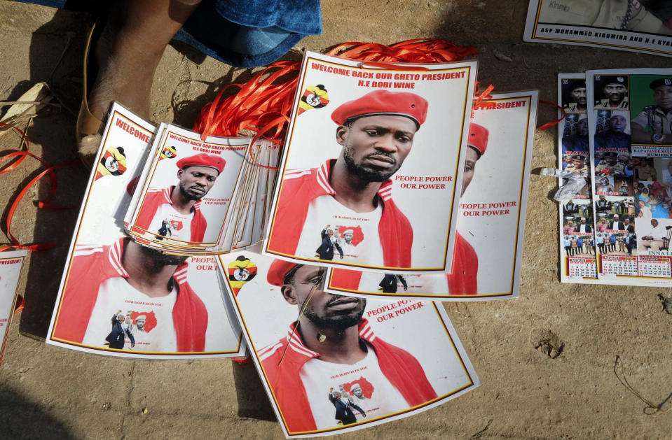
[[(652, 80), (648, 93), (651, 103), (637, 111), (630, 122), (633, 143), (649, 145), (672, 144), (672, 76)], [(644, 90), (641, 94), (645, 94)]]

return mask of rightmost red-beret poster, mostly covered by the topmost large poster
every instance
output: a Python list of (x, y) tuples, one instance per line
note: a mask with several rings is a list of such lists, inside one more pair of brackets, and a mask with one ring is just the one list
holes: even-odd
[(536, 90), (493, 94), (474, 108), (451, 274), (332, 268), (327, 292), (442, 301), (517, 297), (536, 115)]

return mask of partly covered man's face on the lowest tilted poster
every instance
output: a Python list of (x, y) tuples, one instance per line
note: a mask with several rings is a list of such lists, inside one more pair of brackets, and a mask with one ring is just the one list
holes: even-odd
[(294, 281), (282, 286), (282, 296), (289, 304), (299, 306), (299, 310), (303, 310), (303, 318), (317, 327), (344, 330), (357, 325), (364, 315), (366, 299), (324, 292), (323, 275), (323, 267), (299, 267), (294, 272)]

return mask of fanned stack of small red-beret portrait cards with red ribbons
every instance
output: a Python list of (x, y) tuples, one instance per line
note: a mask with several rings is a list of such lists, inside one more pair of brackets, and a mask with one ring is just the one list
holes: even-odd
[[(279, 147), (158, 127), (124, 218), (135, 241), (167, 253), (229, 252), (263, 238)], [(258, 166), (261, 165), (261, 166)]]

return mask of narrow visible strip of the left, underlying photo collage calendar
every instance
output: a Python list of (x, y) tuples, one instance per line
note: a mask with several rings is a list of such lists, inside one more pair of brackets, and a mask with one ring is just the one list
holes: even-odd
[[(593, 203), (590, 183), (588, 94), (584, 73), (558, 75), (558, 105), (565, 118), (558, 125), (558, 164), (579, 173), (586, 184), (560, 204), (560, 274), (563, 283), (597, 283)], [(563, 184), (567, 183), (563, 180)]]

